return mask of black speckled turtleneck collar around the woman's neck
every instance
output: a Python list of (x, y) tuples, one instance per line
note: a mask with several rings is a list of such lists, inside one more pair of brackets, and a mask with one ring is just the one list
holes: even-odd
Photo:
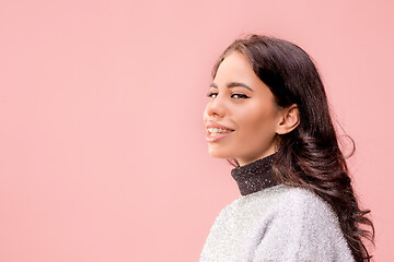
[(246, 195), (278, 184), (273, 174), (276, 153), (231, 170), (241, 194)]

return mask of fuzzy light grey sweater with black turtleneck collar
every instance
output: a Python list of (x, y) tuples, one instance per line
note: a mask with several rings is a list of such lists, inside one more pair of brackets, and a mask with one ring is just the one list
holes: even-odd
[(242, 195), (217, 216), (200, 262), (355, 261), (331, 206), (277, 183), (273, 157), (232, 170)]

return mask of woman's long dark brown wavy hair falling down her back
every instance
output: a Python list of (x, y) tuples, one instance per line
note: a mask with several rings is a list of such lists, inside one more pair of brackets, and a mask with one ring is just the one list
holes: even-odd
[[(372, 243), (374, 239), (373, 224), (366, 216), (370, 211), (359, 207), (346, 159), (338, 145), (324, 85), (310, 56), (292, 43), (250, 35), (236, 39), (224, 50), (213, 67), (213, 78), (220, 63), (232, 51), (247, 57), (278, 106), (298, 105), (300, 124), (289, 133), (277, 134), (279, 146), (274, 162), (277, 180), (312, 190), (325, 200), (338, 216), (355, 260), (370, 261), (372, 257), (362, 242), (362, 238)], [(350, 140), (352, 155), (356, 147)], [(236, 160), (234, 163), (239, 165)], [(364, 226), (370, 230), (363, 229)]]

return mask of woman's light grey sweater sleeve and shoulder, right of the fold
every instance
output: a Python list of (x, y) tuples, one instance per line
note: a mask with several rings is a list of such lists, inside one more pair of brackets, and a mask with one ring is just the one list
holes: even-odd
[(334, 210), (313, 191), (282, 187), (271, 213), (257, 258), (354, 261)]

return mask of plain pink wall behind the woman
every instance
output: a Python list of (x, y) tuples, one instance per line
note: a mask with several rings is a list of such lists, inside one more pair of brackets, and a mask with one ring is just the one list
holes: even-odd
[(197, 261), (239, 196), (207, 153), (210, 70), (246, 33), (317, 61), (392, 261), (394, 4), (317, 2), (2, 0), (0, 261)]

